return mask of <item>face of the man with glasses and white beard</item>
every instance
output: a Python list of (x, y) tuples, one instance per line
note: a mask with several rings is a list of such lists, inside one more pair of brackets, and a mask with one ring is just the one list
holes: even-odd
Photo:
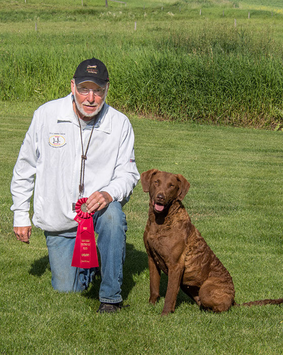
[[(99, 95), (94, 94), (90, 91), (87, 95), (80, 94), (79, 89), (105, 89)], [(81, 84), (75, 85), (74, 80), (71, 80), (71, 90), (74, 95), (74, 100), (77, 106), (79, 118), (85, 121), (90, 121), (94, 116), (96, 116), (103, 107), (105, 98), (107, 95), (108, 84), (101, 88), (97, 84), (87, 81)]]

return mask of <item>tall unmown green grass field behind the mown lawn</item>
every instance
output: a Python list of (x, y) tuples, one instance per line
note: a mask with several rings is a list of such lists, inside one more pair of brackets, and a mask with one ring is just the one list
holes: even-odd
[(283, 125), (283, 14), (276, 2), (264, 9), (228, 0), (145, 2), (144, 9), (109, 4), (2, 1), (0, 100), (66, 95), (77, 63), (96, 56), (109, 68), (108, 101), (117, 109), (177, 121)]

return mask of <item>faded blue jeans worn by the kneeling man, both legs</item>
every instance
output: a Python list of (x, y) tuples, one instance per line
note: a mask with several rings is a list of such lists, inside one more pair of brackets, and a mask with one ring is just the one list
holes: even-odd
[[(122, 205), (111, 202), (107, 208), (93, 215), (96, 240), (101, 259), (100, 302), (121, 302), (123, 264), (126, 255), (126, 216)], [(63, 234), (63, 236), (62, 236)], [(69, 235), (68, 235), (69, 234)], [(49, 262), (52, 273), (52, 287), (63, 292), (86, 290), (93, 280), (96, 268), (80, 269), (71, 266), (75, 232), (45, 231)]]

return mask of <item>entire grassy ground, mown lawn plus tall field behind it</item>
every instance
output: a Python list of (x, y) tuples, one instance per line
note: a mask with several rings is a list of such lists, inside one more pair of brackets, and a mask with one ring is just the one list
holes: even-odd
[[(130, 118), (140, 172), (190, 182), (184, 205), (229, 270), (237, 303), (283, 297), (283, 8), (279, 0), (0, 0), (0, 354), (282, 354), (283, 308), (176, 311), (149, 305), (148, 196), (127, 215), (123, 299), (98, 314), (100, 277), (58, 293), (43, 231), (13, 233), (10, 182), (32, 113), (70, 92), (77, 64), (110, 74), (107, 102)], [(31, 210), (32, 214), (32, 210)]]

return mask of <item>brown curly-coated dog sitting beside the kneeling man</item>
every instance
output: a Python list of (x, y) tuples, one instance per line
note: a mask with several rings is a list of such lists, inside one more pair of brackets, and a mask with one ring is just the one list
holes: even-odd
[[(165, 304), (161, 314), (174, 312), (179, 289), (203, 309), (223, 312), (234, 301), (229, 272), (191, 223), (182, 204), (190, 184), (184, 176), (151, 169), (141, 174), (144, 192), (149, 192), (148, 221), (144, 245), (148, 255), (150, 303), (159, 297), (160, 271), (168, 275)], [(242, 305), (280, 304), (283, 299)]]

